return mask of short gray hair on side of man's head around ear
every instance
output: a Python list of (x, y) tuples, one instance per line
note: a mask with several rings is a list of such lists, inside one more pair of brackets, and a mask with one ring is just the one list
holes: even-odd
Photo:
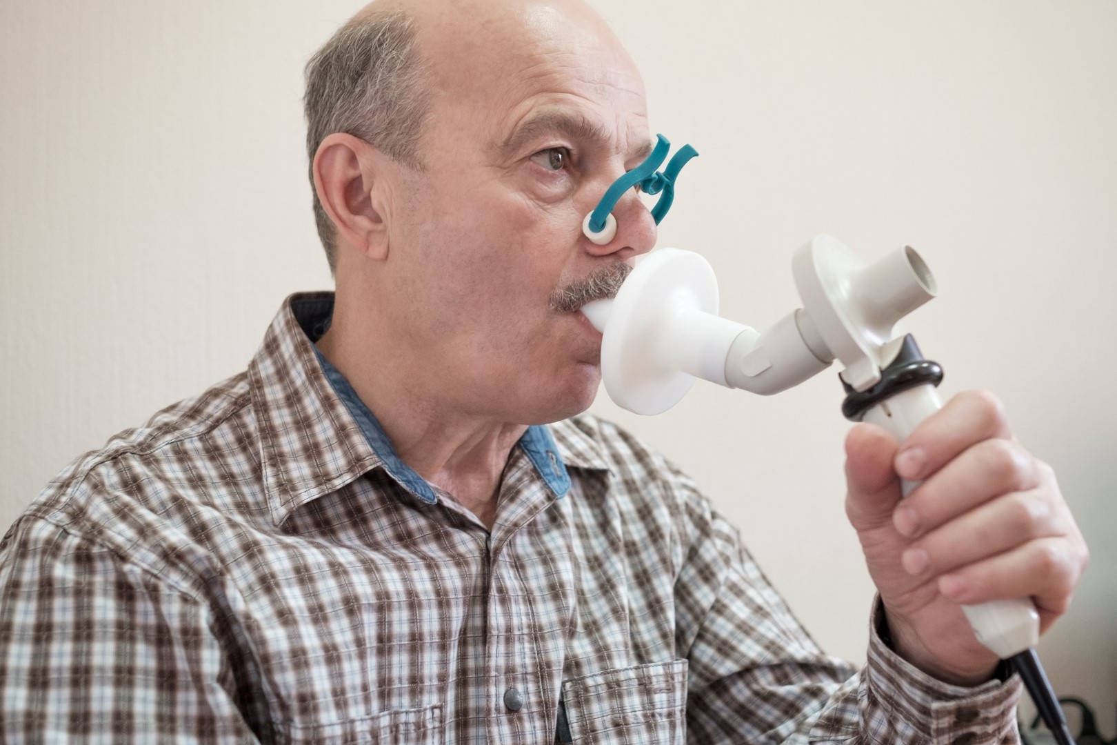
[(338, 29), (306, 64), (311, 193), (331, 274), (337, 268), (336, 228), (314, 189), (314, 155), (328, 135), (344, 132), (422, 169), (418, 149), (429, 96), (414, 40), (414, 23), (405, 13), (373, 12)]

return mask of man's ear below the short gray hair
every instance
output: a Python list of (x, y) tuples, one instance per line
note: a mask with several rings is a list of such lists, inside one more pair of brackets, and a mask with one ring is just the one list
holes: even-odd
[(336, 132), (314, 154), (314, 189), (337, 236), (370, 259), (388, 257), (386, 157), (360, 137)]

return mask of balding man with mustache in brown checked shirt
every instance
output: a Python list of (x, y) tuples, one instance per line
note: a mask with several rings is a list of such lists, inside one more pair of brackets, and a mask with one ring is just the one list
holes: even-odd
[[(655, 223), (642, 84), (576, 0), (398, 0), (308, 67), (336, 296), (248, 371), (54, 481), (0, 564), (13, 741), (1012, 742), (1019, 682), (960, 602), (1086, 562), (1050, 469), (966, 394), (898, 450), (855, 428), (848, 513), (880, 594), (825, 657), (657, 453), (579, 416)], [(903, 505), (898, 477), (924, 485)]]

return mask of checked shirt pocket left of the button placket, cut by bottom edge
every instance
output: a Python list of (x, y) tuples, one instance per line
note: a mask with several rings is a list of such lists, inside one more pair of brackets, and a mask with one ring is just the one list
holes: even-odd
[(345, 743), (353, 745), (442, 745), (446, 741), (445, 707), (441, 704), (392, 709), (357, 719), (328, 724), (279, 726), (280, 743)]

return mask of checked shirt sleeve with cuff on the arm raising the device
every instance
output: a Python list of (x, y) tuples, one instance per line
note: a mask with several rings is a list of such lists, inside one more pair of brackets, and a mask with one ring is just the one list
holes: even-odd
[(876, 623), (865, 668), (828, 657), (737, 531), (687, 480), (682, 488), (689, 535), (676, 581), (676, 628), (689, 660), (689, 742), (1018, 742), (1015, 676), (974, 688), (942, 682), (896, 655)]

